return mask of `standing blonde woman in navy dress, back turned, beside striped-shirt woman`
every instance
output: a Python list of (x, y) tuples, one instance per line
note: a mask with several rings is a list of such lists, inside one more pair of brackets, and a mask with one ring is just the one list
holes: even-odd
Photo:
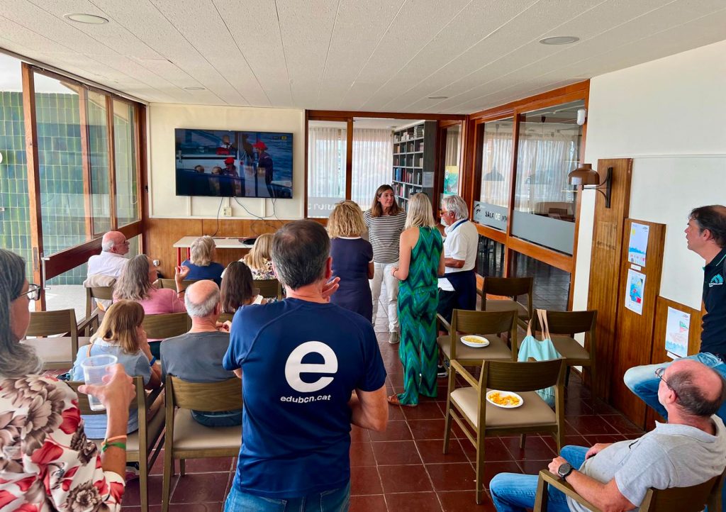
[(365, 221), (361, 208), (353, 201), (335, 205), (327, 221), (333, 277), (340, 277), (340, 288), (330, 302), (371, 318), (373, 303), (368, 280), (373, 277), (373, 247), (363, 240)]

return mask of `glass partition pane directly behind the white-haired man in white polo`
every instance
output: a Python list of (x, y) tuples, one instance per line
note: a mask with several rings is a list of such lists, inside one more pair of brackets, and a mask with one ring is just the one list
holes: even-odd
[(481, 145), (481, 197), (474, 221), (505, 231), (512, 182), (514, 118), (484, 124)]

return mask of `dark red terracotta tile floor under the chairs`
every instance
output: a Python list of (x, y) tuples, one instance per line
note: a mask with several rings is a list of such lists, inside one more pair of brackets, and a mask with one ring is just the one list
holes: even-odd
[[(402, 391), (398, 346), (388, 344), (387, 319), (380, 309), (376, 324), (379, 346), (388, 370), (389, 393)], [(494, 511), (486, 496), (474, 501), (475, 450), (458, 429), (454, 430), (449, 453), (442, 453), (446, 394), (440, 380), (439, 398), (424, 399), (416, 408), (391, 407), (385, 433), (353, 428), (351, 432), (351, 511)], [(566, 444), (591, 446), (640, 435), (640, 430), (616, 410), (593, 400), (582, 382), (573, 375), (566, 391)], [(485, 487), (502, 471), (537, 474), (555, 456), (554, 439), (494, 437), (486, 440)], [(236, 459), (203, 459), (187, 462), (187, 475), (172, 482), (171, 511), (220, 511)], [(151, 511), (160, 511), (163, 457), (150, 476)], [(138, 511), (139, 487), (131, 482), (124, 497), (124, 510)]]

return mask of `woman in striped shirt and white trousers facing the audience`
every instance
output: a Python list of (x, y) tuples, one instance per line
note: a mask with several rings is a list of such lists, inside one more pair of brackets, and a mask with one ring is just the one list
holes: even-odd
[(372, 206), (364, 214), (368, 227), (368, 240), (373, 245), (373, 279), (370, 290), (373, 298), (372, 322), (378, 314), (380, 285), (386, 282), (386, 305), (388, 306), (388, 343), (399, 342), (398, 296), (399, 280), (391, 275), (391, 269), (399, 264), (399, 239), (406, 225), (406, 212), (396, 204), (391, 185), (381, 185), (375, 191)]

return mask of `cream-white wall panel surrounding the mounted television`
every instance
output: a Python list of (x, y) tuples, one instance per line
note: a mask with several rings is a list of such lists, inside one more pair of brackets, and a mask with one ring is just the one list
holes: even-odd
[[(150, 216), (155, 218), (214, 219), (219, 198), (189, 198), (175, 195), (174, 129), (285, 131), (293, 134), (293, 198), (277, 199), (274, 215), (279, 219), (303, 217), (305, 176), (305, 112), (298, 109), (255, 107), (211, 107), (152, 103), (148, 110)], [(224, 199), (222, 208), (232, 207), (232, 218), (271, 217), (270, 199)], [(220, 212), (221, 215), (221, 212)]]

